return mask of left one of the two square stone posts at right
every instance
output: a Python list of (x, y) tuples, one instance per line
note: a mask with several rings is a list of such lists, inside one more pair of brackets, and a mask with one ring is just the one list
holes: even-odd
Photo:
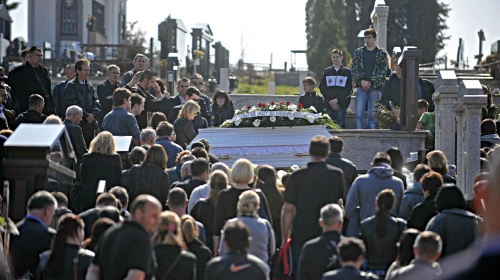
[(457, 101), (457, 94), (458, 86), (455, 71), (439, 71), (436, 80), (436, 92), (432, 97), (436, 105), (434, 147), (445, 154), (450, 164), (456, 164), (455, 112), (451, 110), (451, 107)]

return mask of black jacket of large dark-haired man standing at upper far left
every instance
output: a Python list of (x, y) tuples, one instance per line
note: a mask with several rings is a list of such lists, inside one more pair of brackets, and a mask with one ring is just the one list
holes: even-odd
[(30, 95), (37, 93), (45, 99), (43, 113), (45, 115), (54, 114), (54, 99), (50, 88), (49, 71), (42, 65), (39, 67), (41, 68), (43, 77), (38, 78), (34, 68), (28, 61), (24, 65), (14, 68), (9, 74), (9, 85), (12, 87), (12, 93), (19, 101), (19, 110), (21, 112), (29, 109)]

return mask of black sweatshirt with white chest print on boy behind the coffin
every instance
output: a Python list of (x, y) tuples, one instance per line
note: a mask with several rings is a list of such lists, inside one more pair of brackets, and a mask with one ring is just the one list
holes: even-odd
[[(326, 80), (327, 77), (332, 77), (332, 81)], [(342, 80), (342, 83), (345, 81), (343, 79), (347, 79), (345, 81), (345, 86), (335, 85), (335, 81), (333, 81), (333, 77), (338, 77), (339, 82)], [(340, 78), (342, 77), (342, 78)], [(332, 85), (333, 83), (333, 85)], [(331, 86), (328, 86), (330, 84)], [(339, 71), (337, 72), (335, 68), (332, 66), (328, 67), (323, 71), (323, 75), (321, 76), (321, 82), (319, 84), (319, 90), (325, 99), (325, 108), (330, 108), (330, 104), (328, 101), (337, 98), (338, 105), (340, 109), (346, 109), (349, 107), (351, 103), (351, 95), (352, 95), (352, 74), (349, 68), (341, 66)]]

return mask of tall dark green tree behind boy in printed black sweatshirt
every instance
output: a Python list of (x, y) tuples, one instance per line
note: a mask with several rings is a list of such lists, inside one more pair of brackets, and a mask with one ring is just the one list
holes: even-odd
[(309, 0), (306, 4), (307, 64), (309, 70), (321, 77), (332, 64), (331, 51), (344, 53), (343, 64), (350, 65), (345, 32), (345, 4), (342, 0)]

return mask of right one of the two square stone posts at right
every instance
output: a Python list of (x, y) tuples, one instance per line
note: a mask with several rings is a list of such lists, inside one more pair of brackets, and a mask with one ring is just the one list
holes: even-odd
[(457, 121), (457, 185), (467, 199), (473, 196), (474, 178), (481, 171), (481, 109), (487, 96), (478, 80), (465, 80), (460, 83), (458, 100), (452, 110)]

